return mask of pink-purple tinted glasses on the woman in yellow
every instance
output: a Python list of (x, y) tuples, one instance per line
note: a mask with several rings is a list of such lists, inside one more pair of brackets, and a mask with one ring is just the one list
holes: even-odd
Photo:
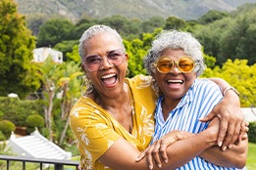
[[(125, 55), (123, 50), (110, 51), (106, 57), (109, 64), (120, 65), (125, 61)], [(103, 63), (103, 58), (98, 55), (87, 56), (84, 59), (86, 67), (90, 71), (96, 71)]]

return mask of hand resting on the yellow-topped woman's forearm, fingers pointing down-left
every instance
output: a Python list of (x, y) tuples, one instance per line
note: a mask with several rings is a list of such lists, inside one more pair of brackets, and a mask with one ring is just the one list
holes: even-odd
[[(145, 156), (147, 159), (147, 163), (149, 166), (149, 169), (153, 169), (153, 159), (155, 163), (158, 165), (158, 167), (162, 167), (162, 160), (164, 160), (166, 163), (168, 162), (168, 156), (167, 156), (167, 148), (174, 144), (175, 142), (182, 140), (184, 138), (187, 138), (188, 136), (191, 136), (193, 134), (183, 131), (174, 130), (168, 134), (166, 134), (164, 137), (160, 138), (158, 141), (154, 142), (153, 145), (142, 151), (136, 161), (140, 161)], [(160, 157), (161, 156), (161, 157)]]

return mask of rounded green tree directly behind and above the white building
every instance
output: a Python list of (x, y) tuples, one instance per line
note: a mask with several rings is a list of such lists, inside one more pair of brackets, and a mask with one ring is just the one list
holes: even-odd
[(54, 47), (57, 43), (70, 40), (74, 24), (66, 19), (51, 19), (41, 24), (38, 33), (37, 47)]

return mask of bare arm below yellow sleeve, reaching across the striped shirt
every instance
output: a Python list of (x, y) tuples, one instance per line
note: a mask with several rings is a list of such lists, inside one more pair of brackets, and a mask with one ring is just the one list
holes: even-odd
[[(147, 165), (147, 162), (150, 162), (148, 156), (136, 161), (140, 151), (130, 146), (123, 138), (116, 141), (98, 160), (113, 169), (161, 169), (160, 167), (174, 169), (199, 155), (204, 149), (217, 144), (218, 128), (215, 129), (215, 133), (213, 133), (213, 128), (209, 128), (209, 130), (192, 135), (169, 146), (167, 149), (169, 159), (164, 164), (151, 161), (152, 164)], [(157, 166), (159, 164), (161, 166)]]

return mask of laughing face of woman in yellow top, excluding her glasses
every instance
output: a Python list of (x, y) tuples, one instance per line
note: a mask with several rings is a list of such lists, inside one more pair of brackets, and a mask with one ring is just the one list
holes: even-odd
[[(110, 33), (100, 33), (89, 39), (83, 46), (85, 56), (99, 56), (103, 62), (98, 70), (90, 71), (82, 62), (81, 67), (91, 80), (100, 96), (114, 98), (124, 91), (125, 77), (128, 68), (128, 55), (120, 65), (109, 64), (106, 56), (113, 50), (123, 49), (118, 39)], [(85, 57), (85, 58), (86, 58)]]

